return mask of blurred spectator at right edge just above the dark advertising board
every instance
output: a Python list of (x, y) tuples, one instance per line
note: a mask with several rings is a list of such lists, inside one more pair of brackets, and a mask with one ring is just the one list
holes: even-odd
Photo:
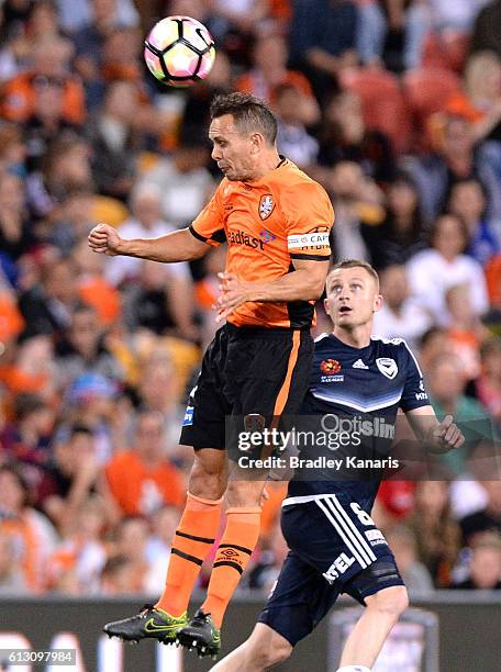
[(501, 590), (501, 537), (486, 536), (479, 539), (471, 553), (469, 576), (453, 584), (459, 590)]

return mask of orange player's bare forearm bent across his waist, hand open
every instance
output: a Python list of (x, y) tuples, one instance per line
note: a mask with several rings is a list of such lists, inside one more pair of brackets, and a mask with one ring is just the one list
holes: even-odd
[(220, 273), (221, 295), (218, 299), (218, 321), (225, 320), (238, 305), (247, 301), (314, 301), (320, 299), (329, 270), (325, 261), (294, 259), (292, 272), (270, 282), (249, 282), (233, 273)]

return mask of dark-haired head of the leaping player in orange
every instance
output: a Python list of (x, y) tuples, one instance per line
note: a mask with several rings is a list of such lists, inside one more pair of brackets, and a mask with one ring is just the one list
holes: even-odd
[(260, 165), (276, 152), (277, 120), (250, 93), (216, 96), (211, 104), (209, 137), (212, 158), (229, 180), (254, 180)]

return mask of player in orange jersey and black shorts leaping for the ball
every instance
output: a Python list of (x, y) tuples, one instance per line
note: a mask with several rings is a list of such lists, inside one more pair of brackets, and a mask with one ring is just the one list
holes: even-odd
[[(248, 93), (216, 97), (211, 120), (212, 158), (225, 177), (189, 228), (124, 240), (100, 224), (89, 235), (97, 253), (165, 262), (202, 257), (224, 240), (229, 245), (216, 306), (218, 321), (225, 324), (205, 352), (181, 432), (181, 444), (194, 448), (194, 463), (166, 586), (154, 607), (104, 627), (127, 640), (180, 641), (200, 654), (220, 650), (225, 608), (258, 539), (266, 479), (265, 472), (249, 479), (230, 460), (229, 480), (225, 418), (269, 423), (298, 410), (310, 377), (310, 326), (327, 273), (334, 221), (322, 187), (278, 155), (277, 122), (263, 101)], [(189, 598), (214, 542), (225, 492), (226, 527), (208, 596), (188, 623)]]

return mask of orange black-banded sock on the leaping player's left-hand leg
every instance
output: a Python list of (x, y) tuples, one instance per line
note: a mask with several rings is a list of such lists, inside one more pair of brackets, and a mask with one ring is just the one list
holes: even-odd
[(167, 579), (156, 607), (171, 616), (188, 608), (191, 591), (218, 534), (223, 497), (202, 500), (188, 493), (185, 513), (172, 539)]

